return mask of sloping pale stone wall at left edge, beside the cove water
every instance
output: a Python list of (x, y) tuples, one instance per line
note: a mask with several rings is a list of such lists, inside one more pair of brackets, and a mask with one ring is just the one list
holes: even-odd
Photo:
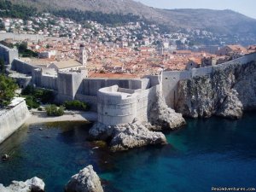
[(19, 100), (14, 108), (0, 113), (0, 143), (17, 131), (30, 115), (24, 99), (19, 98)]

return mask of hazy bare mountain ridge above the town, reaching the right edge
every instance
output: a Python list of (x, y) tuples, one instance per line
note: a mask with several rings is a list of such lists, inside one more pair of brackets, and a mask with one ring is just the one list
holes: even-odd
[(256, 37), (256, 20), (232, 10), (155, 9), (132, 0), (11, 0), (39, 10), (79, 9), (133, 14), (171, 29), (201, 29), (218, 34)]

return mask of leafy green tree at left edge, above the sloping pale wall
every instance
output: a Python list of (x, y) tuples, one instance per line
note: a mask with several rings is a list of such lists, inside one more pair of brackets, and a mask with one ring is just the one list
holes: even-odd
[(3, 74), (0, 75), (0, 106), (7, 106), (15, 97), (15, 90), (18, 85), (14, 79), (11, 79)]

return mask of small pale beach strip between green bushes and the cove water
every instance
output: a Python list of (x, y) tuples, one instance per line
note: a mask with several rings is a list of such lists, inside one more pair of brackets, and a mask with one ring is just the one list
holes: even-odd
[(96, 112), (81, 112), (81, 111), (66, 111), (62, 116), (50, 117), (47, 116), (46, 112), (31, 110), (30, 117), (26, 119), (24, 125), (40, 124), (40, 123), (52, 123), (52, 122), (63, 122), (63, 121), (97, 121)]

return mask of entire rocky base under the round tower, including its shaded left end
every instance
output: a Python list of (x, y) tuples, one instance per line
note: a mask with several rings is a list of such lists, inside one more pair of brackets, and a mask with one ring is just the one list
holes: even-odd
[(103, 125), (96, 123), (90, 128), (90, 139), (110, 140), (113, 152), (139, 148), (147, 145), (166, 144), (163, 133), (149, 131), (145, 125), (135, 119), (131, 124)]

